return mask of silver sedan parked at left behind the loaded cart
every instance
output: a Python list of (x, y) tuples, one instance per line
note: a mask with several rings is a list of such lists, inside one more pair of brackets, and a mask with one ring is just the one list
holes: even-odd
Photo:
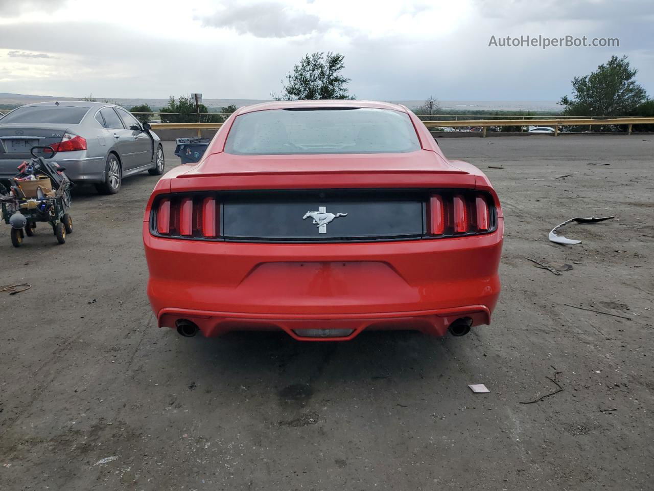
[(54, 160), (71, 181), (94, 183), (105, 194), (118, 192), (128, 175), (163, 173), (160, 138), (148, 123), (114, 104), (43, 102), (0, 118), (0, 179), (16, 175), (31, 147), (39, 145), (54, 148)]

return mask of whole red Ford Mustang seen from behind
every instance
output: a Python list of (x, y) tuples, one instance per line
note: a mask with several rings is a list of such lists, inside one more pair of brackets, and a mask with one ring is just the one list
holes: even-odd
[(503, 234), (487, 177), (447, 160), (406, 107), (263, 103), (156, 185), (148, 296), (184, 336), (460, 336), (490, 322)]

